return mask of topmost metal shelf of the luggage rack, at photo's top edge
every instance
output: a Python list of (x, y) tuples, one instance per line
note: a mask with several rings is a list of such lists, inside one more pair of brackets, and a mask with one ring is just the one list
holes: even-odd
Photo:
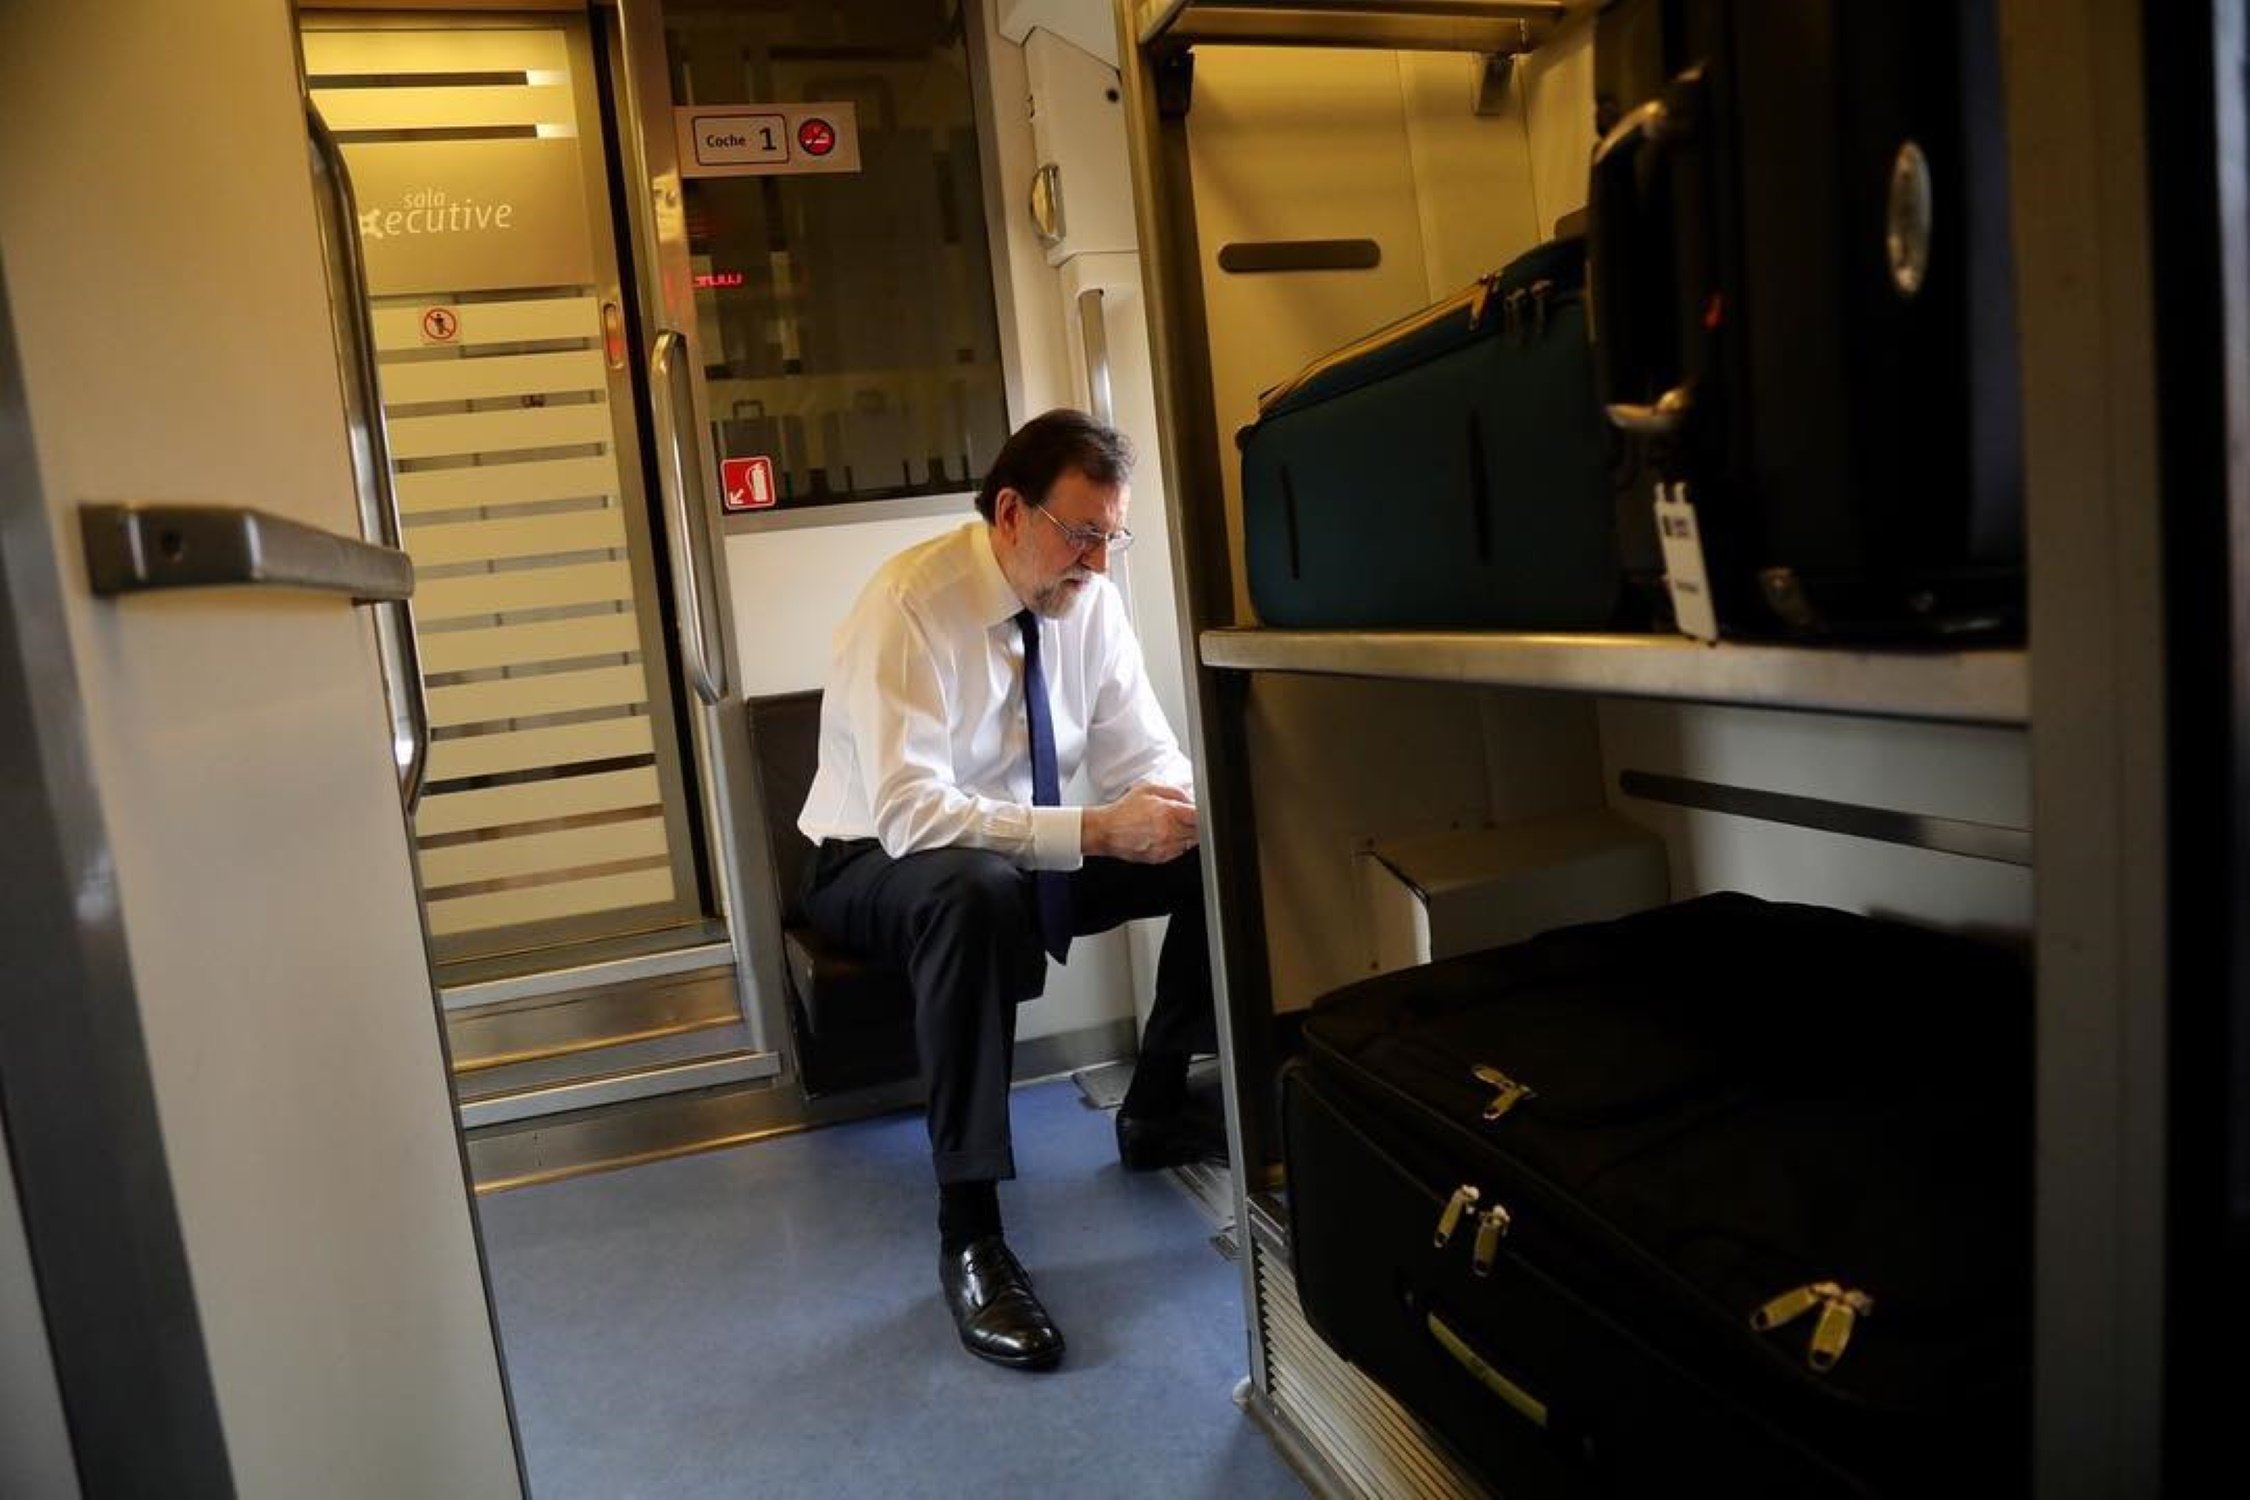
[(1141, 45), (1530, 52), (1586, 4), (1566, 0), (1143, 0)]

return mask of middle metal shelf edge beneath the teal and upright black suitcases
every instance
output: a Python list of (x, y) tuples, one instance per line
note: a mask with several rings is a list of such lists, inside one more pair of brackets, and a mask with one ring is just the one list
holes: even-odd
[(1469, 681), (1755, 708), (2025, 724), (2023, 650), (1874, 652), (1834, 645), (1703, 645), (1688, 636), (1424, 630), (1206, 630), (1206, 666)]

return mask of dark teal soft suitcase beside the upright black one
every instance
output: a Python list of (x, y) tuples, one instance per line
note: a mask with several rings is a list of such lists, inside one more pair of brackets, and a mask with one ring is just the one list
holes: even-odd
[(1267, 625), (1613, 623), (1613, 439), (1577, 238), (1316, 360), (1264, 394), (1240, 443)]

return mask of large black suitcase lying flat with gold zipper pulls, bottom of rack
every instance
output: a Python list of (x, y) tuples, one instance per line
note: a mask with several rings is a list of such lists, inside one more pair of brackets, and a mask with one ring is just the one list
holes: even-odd
[(1305, 1316), (1501, 1493), (2025, 1489), (2012, 954), (1728, 893), (1352, 985), (1303, 1037)]

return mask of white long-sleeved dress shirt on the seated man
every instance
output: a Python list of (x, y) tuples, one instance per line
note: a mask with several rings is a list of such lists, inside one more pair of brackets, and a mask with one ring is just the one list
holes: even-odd
[[(821, 765), (796, 819), (808, 839), (880, 839), (893, 859), (988, 848), (1033, 870), (1084, 864), (1080, 807), (1030, 805), (1019, 609), (983, 519), (882, 564), (835, 634)], [(1062, 785), (1082, 767), (1096, 803), (1138, 783), (1192, 794), (1116, 585), (1096, 576), (1040, 632)]]

